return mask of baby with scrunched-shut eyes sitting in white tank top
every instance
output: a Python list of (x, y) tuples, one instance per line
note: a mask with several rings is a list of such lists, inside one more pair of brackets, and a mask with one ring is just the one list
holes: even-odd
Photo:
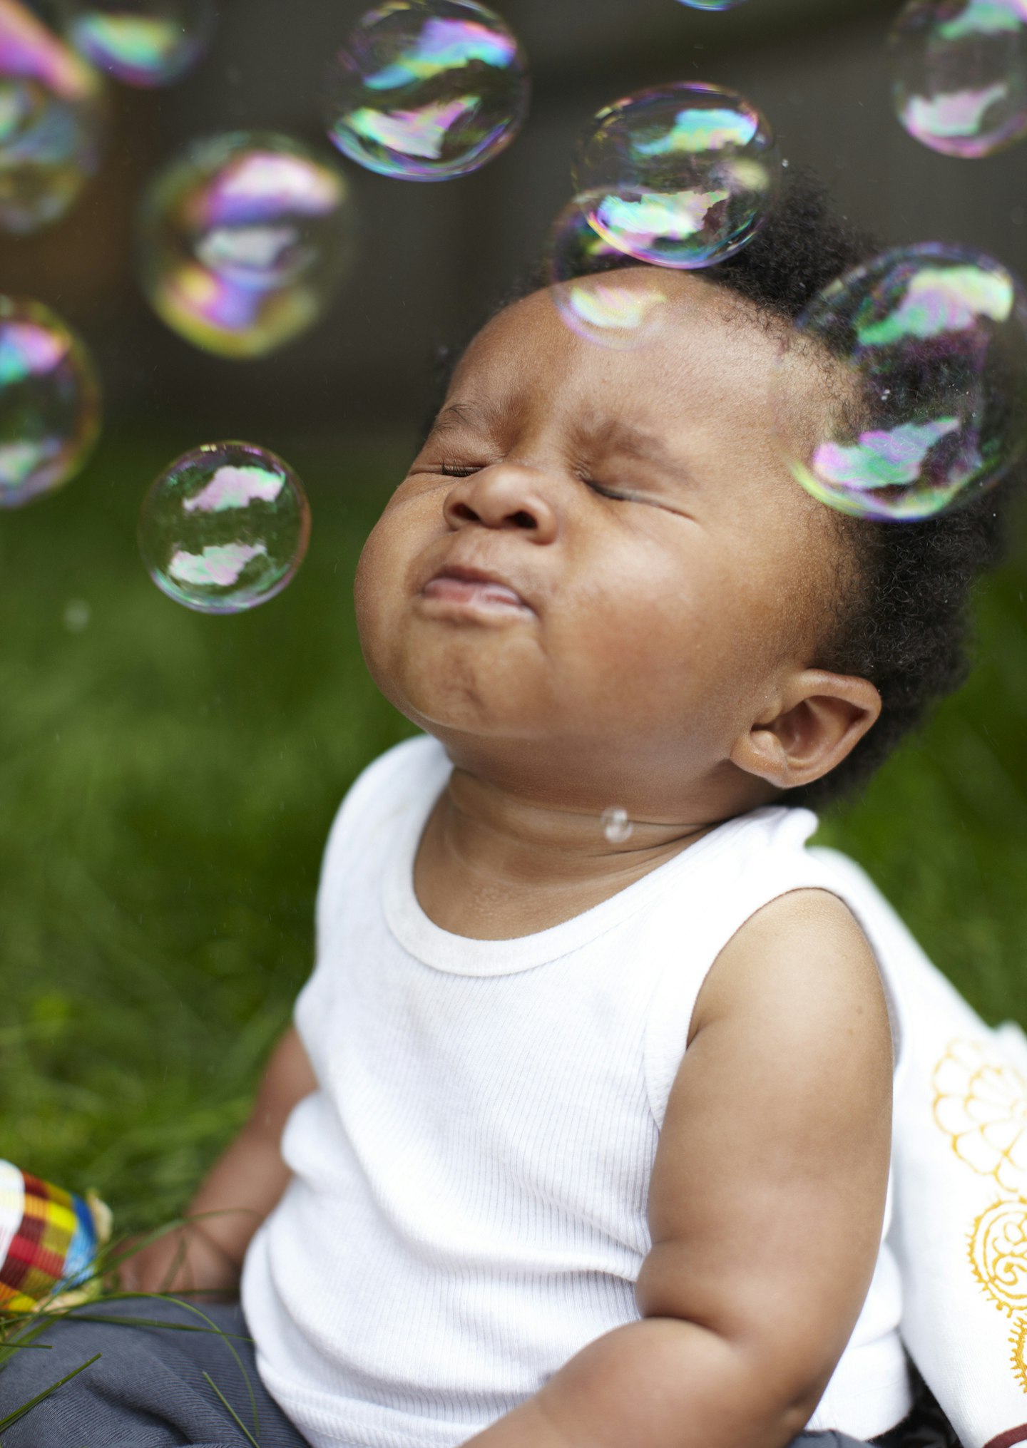
[[(540, 287), (458, 359), (356, 578), (368, 668), (423, 733), (338, 815), (295, 1024), (188, 1209), (216, 1215), (122, 1271), (240, 1287), (197, 1300), (253, 1338), (261, 1448), (782, 1448), (907, 1419), (915, 947), (807, 850), (808, 807), (959, 682), (1002, 489), (873, 524), (782, 463), (781, 340), (865, 255), (797, 187), (732, 262), (659, 274), (647, 346), (590, 345)], [(797, 368), (785, 421), (816, 427), (824, 385)], [(45, 1341), (4, 1407), (104, 1357), (6, 1448), (253, 1442), (217, 1338)]]

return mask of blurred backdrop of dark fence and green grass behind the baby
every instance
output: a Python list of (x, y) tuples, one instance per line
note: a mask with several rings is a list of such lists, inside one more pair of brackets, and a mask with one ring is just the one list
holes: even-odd
[[(52, 0), (32, 0), (43, 16)], [(668, 80), (734, 85), (792, 165), (892, 243), (981, 246), (1027, 271), (1024, 148), (966, 162), (898, 126), (897, 0), (498, 0), (535, 74), (495, 162), (442, 187), (346, 165), (353, 277), (288, 350), (225, 362), (149, 313), (132, 217), (190, 138), (236, 127), (329, 153), (316, 93), (366, 0), (222, 4), (214, 48), (168, 91), (112, 88), (107, 162), (65, 222), (0, 237), (0, 291), (85, 336), (106, 433), (64, 492), (0, 514), (0, 1157), (83, 1190), (117, 1226), (175, 1215), (243, 1121), (311, 964), (320, 851), (345, 789), (407, 733), (359, 659), (352, 575), (426, 404), (432, 346), (535, 258), (595, 109)], [(297, 581), (236, 618), (178, 608), (135, 547), (151, 479), (246, 437), (304, 478)], [(1027, 546), (979, 598), (963, 694), (823, 838), (866, 864), (989, 1019), (1027, 1019)]]

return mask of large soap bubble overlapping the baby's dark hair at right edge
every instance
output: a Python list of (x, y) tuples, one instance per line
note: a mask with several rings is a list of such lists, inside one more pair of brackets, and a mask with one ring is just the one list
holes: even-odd
[[(827, 421), (798, 440), (794, 395), (810, 365)], [(1027, 295), (981, 252), (934, 242), (885, 252), (800, 317), (774, 397), (791, 469), (816, 498), (858, 517), (931, 517), (1024, 453)]]

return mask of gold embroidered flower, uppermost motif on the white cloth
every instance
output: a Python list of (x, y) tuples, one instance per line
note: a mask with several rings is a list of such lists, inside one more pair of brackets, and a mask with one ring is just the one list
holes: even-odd
[(934, 1119), (952, 1150), (1007, 1192), (1027, 1187), (1027, 1082), (1008, 1061), (956, 1040), (934, 1067)]

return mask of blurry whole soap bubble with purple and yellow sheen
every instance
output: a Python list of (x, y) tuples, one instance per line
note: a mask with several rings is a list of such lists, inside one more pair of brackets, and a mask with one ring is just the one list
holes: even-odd
[(141, 281), (206, 352), (253, 358), (324, 313), (355, 256), (356, 216), (333, 159), (261, 132), (190, 146), (141, 211)]

